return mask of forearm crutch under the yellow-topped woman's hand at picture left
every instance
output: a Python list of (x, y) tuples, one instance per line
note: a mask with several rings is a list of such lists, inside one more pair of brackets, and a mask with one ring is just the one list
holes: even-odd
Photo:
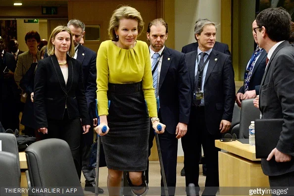
[[(108, 108), (110, 105), (110, 100), (108, 100)], [(96, 115), (98, 118), (98, 125), (100, 124), (100, 119), (98, 115), (98, 101), (96, 99)], [(102, 127), (102, 133), (107, 131), (107, 127), (104, 125)], [(101, 143), (101, 136), (97, 134), (97, 157), (96, 157), (96, 178), (95, 178), (95, 196), (98, 196), (98, 183), (99, 183), (99, 161), (100, 161), (100, 143)]]

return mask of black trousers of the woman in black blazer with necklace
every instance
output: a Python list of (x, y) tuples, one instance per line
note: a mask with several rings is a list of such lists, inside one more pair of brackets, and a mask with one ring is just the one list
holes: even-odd
[[(67, 111), (64, 112), (67, 114)], [(67, 142), (70, 147), (75, 167), (81, 178), (80, 171), (80, 141), (83, 132), (80, 118), (68, 119), (64, 115), (63, 120), (48, 119), (48, 136), (47, 138), (58, 138)], [(62, 149), (60, 149), (62, 150)]]

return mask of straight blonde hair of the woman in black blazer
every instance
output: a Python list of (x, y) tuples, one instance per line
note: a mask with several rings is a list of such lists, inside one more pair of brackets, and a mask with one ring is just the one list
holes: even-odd
[(75, 55), (75, 47), (74, 47), (74, 44), (73, 44), (73, 39), (72, 39), (72, 34), (71, 34), (71, 31), (68, 27), (66, 26), (57, 26), (55, 27), (55, 29), (53, 29), (50, 37), (49, 37), (49, 42), (48, 42), (48, 45), (47, 45), (47, 49), (48, 49), (48, 55), (51, 56), (55, 53), (55, 46), (52, 44), (52, 40), (55, 39), (55, 36), (60, 33), (60, 32), (63, 32), (63, 31), (66, 31), (67, 33), (69, 33), (70, 35), (70, 46), (69, 46), (69, 50), (68, 50), (68, 54), (69, 56), (74, 56)]

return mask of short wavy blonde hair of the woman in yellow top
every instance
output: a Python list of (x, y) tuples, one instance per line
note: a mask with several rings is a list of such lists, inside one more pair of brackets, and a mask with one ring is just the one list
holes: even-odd
[(118, 38), (116, 38), (115, 30), (118, 29), (119, 20), (122, 18), (135, 19), (138, 21), (138, 37), (139, 37), (144, 30), (144, 22), (140, 12), (137, 9), (130, 6), (121, 6), (120, 8), (113, 11), (113, 14), (110, 18), (109, 27), (108, 27), (109, 38), (113, 41), (118, 41)]

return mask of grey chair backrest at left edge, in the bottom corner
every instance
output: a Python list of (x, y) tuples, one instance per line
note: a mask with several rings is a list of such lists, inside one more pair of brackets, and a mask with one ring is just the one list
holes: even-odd
[(0, 168), (0, 187), (20, 188), (19, 161), (14, 153), (0, 151)]

